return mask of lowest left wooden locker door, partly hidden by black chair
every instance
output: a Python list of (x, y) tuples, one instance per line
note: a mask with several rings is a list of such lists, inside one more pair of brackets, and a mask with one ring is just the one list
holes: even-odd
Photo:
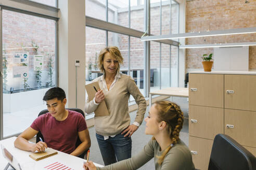
[(208, 169), (213, 140), (189, 136), (189, 149), (197, 169)]

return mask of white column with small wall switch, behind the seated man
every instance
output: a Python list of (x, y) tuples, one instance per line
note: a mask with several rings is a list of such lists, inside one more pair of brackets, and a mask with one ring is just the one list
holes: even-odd
[(59, 87), (67, 94), (67, 107), (76, 107), (75, 60), (77, 67), (77, 107), (85, 103), (85, 1), (59, 1)]

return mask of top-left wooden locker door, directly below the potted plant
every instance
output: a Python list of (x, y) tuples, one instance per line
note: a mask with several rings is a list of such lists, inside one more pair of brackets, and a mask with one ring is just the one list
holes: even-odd
[(224, 75), (190, 74), (189, 104), (222, 107)]

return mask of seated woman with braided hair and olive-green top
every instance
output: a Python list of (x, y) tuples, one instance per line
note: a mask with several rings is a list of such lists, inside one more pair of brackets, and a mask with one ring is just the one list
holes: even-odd
[(156, 170), (195, 169), (188, 147), (179, 138), (183, 112), (178, 105), (169, 101), (156, 102), (145, 121), (145, 133), (153, 137), (139, 154), (105, 167), (96, 167), (91, 161), (83, 167), (89, 170), (137, 169), (154, 158)]

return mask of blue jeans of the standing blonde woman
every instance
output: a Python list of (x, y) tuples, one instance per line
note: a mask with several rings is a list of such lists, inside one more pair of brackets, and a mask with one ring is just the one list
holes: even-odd
[(104, 140), (104, 136), (96, 133), (101, 156), (104, 164), (109, 165), (117, 161), (122, 161), (132, 156), (132, 139), (124, 137), (125, 134), (117, 134), (114, 137), (109, 136)]

